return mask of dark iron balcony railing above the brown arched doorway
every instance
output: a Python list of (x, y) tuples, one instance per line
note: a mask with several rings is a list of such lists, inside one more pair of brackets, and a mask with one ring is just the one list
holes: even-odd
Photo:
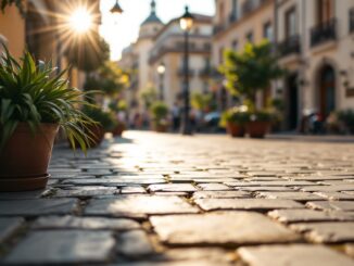
[(332, 18), (311, 29), (311, 46), (315, 47), (324, 42), (337, 39), (337, 20)]

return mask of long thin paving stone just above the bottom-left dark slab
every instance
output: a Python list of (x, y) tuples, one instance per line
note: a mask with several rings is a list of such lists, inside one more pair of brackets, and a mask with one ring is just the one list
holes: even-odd
[(102, 217), (48, 216), (40, 217), (34, 224), (35, 229), (139, 229), (140, 225), (131, 219), (112, 219)]

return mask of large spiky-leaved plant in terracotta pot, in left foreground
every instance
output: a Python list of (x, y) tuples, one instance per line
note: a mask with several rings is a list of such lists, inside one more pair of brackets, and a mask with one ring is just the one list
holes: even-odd
[(0, 58), (0, 191), (45, 188), (53, 141), (62, 128), (73, 147), (86, 151), (94, 122), (77, 105), (86, 93), (71, 88), (65, 72), (35, 63), (26, 52), (16, 61), (4, 47)]

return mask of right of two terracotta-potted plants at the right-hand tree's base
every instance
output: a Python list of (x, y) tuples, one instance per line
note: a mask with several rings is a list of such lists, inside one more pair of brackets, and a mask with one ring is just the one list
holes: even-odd
[(271, 125), (273, 115), (267, 111), (255, 111), (250, 114), (250, 122), (246, 123), (246, 131), (251, 138), (262, 139), (265, 137)]

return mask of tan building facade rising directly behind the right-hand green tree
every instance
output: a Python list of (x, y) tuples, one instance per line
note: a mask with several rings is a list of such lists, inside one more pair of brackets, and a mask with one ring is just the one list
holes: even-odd
[[(224, 63), (226, 50), (242, 51), (248, 42), (274, 41), (274, 0), (215, 0), (213, 20), (213, 67), (220, 111), (235, 104), (217, 68)], [(257, 105), (264, 106), (271, 89), (257, 94)]]

